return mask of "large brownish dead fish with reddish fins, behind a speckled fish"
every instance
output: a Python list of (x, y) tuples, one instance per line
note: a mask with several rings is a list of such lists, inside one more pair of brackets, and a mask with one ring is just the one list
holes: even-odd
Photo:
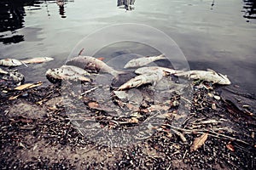
[(99, 71), (109, 73), (113, 75), (113, 77), (118, 77), (119, 74), (122, 74), (122, 71), (116, 71), (112, 67), (108, 66), (106, 63), (104, 63), (100, 59), (96, 59), (94, 57), (90, 56), (81, 56), (74, 57), (73, 59), (70, 59), (66, 63), (67, 65), (75, 65), (78, 66), (86, 71), (90, 72), (96, 72)]

